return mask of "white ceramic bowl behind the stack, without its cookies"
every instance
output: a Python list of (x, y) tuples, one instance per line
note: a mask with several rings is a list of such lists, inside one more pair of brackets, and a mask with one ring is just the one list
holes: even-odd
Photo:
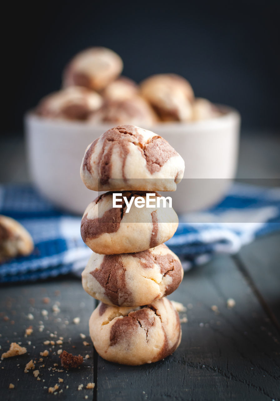
[[(182, 123), (162, 123), (150, 129), (166, 139), (185, 161), (184, 178), (172, 195), (178, 213), (202, 209), (224, 196), (235, 176), (240, 115), (219, 106), (223, 115)], [(54, 205), (82, 214), (97, 196), (80, 178), (88, 144), (112, 126), (93, 126), (28, 113), (25, 118), (28, 164), (33, 183)]]

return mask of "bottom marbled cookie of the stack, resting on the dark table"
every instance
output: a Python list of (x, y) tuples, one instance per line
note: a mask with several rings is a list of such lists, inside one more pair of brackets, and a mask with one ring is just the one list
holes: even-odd
[(90, 317), (98, 354), (124, 365), (152, 363), (172, 354), (181, 341), (178, 312), (167, 298), (138, 308), (100, 304)]

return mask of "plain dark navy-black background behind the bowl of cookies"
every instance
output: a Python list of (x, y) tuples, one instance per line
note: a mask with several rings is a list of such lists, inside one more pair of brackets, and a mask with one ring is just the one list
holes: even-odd
[(196, 96), (236, 107), (243, 128), (279, 123), (280, 1), (10, 2), (2, 17), (5, 134), (58, 89), (64, 65), (93, 45), (120, 54), (123, 74), (186, 77)]

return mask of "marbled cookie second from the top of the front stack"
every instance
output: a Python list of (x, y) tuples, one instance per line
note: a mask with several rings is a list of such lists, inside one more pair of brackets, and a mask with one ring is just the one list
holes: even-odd
[[(96, 253), (114, 254), (140, 252), (155, 247), (170, 239), (177, 227), (178, 216), (172, 207), (156, 206), (160, 198), (157, 192), (155, 207), (145, 205), (139, 209), (135, 205), (138, 196), (146, 201), (146, 192), (122, 192), (121, 207), (113, 207), (113, 193), (106, 192), (88, 205), (81, 223), (81, 236)], [(128, 209), (126, 202), (130, 203)], [(134, 197), (134, 198), (133, 198)], [(129, 212), (128, 212), (129, 210)], [(128, 212), (128, 213), (127, 213)]]

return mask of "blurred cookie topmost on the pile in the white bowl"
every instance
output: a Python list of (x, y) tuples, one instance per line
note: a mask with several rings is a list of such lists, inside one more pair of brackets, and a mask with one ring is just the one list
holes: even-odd
[(63, 86), (85, 86), (94, 91), (104, 89), (122, 72), (119, 55), (106, 47), (91, 47), (78, 53), (63, 74)]

